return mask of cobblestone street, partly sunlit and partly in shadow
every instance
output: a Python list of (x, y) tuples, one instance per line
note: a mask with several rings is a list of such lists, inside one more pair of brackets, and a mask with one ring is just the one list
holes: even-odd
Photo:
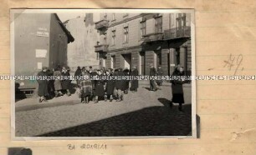
[[(129, 92), (123, 102), (72, 103), (58, 98), (55, 106), (32, 103), (37, 108), (16, 111), (17, 137), (92, 137), (92, 136), (187, 136), (192, 132), (191, 86), (184, 86), (184, 112), (177, 105), (169, 106), (171, 85), (156, 92), (140, 85), (138, 92)], [(74, 94), (76, 95), (76, 94)], [(73, 96), (74, 96), (73, 95)], [(40, 105), (38, 105), (40, 104)], [(49, 102), (46, 104), (53, 104)], [(20, 105), (20, 104), (19, 104)], [(16, 108), (17, 109), (17, 108)]]

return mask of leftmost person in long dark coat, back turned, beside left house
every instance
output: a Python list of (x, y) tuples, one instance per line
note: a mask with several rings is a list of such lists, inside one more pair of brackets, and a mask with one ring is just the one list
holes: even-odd
[[(43, 67), (41, 72), (38, 72), (38, 77), (46, 77), (47, 67)], [(48, 92), (48, 81), (47, 79), (38, 80), (38, 96), (39, 102), (46, 102), (46, 96), (49, 95)]]

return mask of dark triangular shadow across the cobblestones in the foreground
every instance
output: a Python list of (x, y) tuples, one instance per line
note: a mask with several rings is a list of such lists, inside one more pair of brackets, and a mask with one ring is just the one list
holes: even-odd
[(179, 112), (177, 105), (170, 108), (166, 98), (158, 100), (164, 106), (146, 107), (38, 137), (190, 136), (191, 104), (185, 104), (184, 112)]

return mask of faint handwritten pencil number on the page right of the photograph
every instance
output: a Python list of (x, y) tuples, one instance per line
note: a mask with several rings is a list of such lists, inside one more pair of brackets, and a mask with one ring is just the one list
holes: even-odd
[(231, 71), (234, 69), (233, 74), (237, 75), (238, 70), (243, 71), (243, 67), (241, 66), (243, 62), (243, 55), (239, 54), (238, 56), (229, 55), (228, 60), (224, 61), (223, 67), (228, 67), (228, 70)]

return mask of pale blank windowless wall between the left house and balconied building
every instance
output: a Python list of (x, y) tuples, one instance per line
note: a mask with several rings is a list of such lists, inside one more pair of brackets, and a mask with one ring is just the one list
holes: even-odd
[(95, 22), (100, 14), (86, 13), (64, 22), (65, 27), (75, 37), (68, 45), (68, 65), (72, 70), (76, 67), (99, 67), (99, 58), (95, 54), (95, 42), (99, 33), (95, 31)]

